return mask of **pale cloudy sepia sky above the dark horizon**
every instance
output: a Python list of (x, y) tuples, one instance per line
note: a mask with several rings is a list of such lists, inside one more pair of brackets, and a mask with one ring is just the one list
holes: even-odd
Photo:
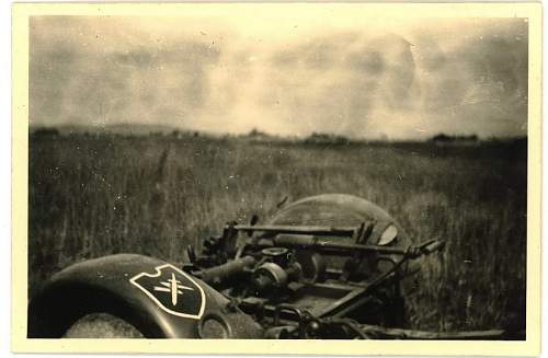
[(190, 13), (30, 25), (35, 125), (392, 139), (527, 130), (523, 19)]

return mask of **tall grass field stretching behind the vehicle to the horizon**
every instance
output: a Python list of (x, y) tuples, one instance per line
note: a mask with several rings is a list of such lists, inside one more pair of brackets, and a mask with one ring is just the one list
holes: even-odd
[[(32, 136), (30, 292), (67, 265), (133, 252), (182, 262), (229, 220), (346, 193), (416, 241), (447, 240), (411, 299), (422, 330), (502, 327), (525, 315), (526, 141), (319, 146), (206, 137)], [(524, 320), (524, 319), (523, 319)]]

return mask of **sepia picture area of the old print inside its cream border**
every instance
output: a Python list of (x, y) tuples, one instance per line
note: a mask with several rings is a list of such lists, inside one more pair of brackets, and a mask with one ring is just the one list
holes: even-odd
[(204, 7), (30, 16), (27, 338), (525, 340), (528, 19)]

